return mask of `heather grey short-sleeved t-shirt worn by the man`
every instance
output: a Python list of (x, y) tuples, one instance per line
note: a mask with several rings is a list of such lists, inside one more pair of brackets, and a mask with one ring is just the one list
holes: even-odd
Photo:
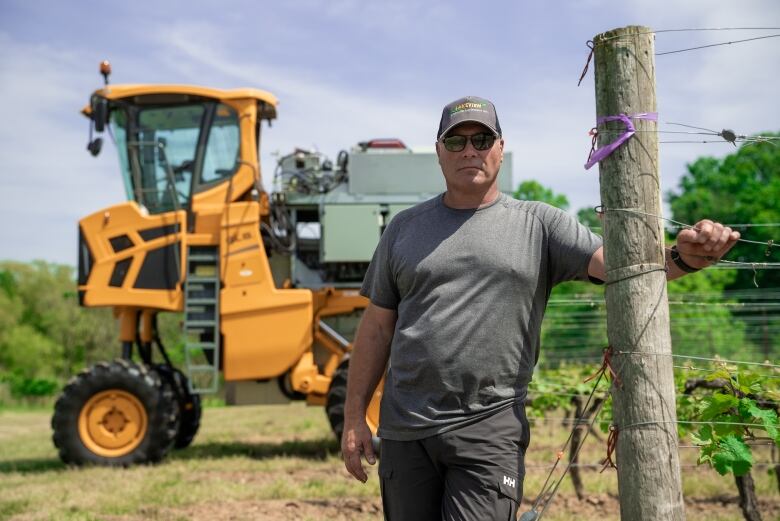
[(524, 399), (550, 291), (587, 280), (599, 246), (566, 212), (503, 194), (472, 210), (442, 194), (399, 213), (360, 291), (398, 312), (379, 435), (422, 439)]

